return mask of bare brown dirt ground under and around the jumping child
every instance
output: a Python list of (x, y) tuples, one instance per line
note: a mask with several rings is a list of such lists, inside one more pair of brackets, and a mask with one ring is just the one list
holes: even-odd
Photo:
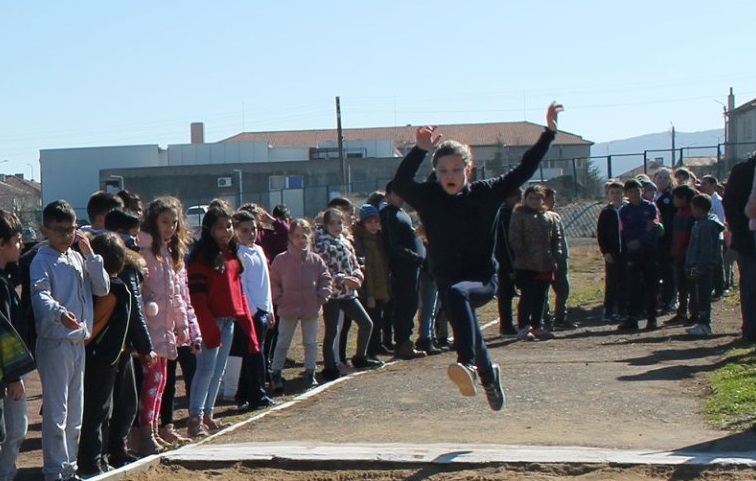
[[(701, 415), (708, 392), (706, 375), (738, 344), (740, 314), (735, 298), (715, 305), (715, 335), (694, 339), (682, 327), (620, 334), (600, 322), (596, 295), (603, 285), (591, 243), (572, 249), (573, 292), (578, 300), (571, 320), (581, 323), (557, 339), (523, 343), (502, 341), (495, 328), (485, 334), (492, 357), (503, 369), (507, 408), (489, 410), (484, 396), (463, 398), (445, 375), (453, 353), (399, 362), (339, 383), (295, 406), (271, 413), (215, 442), (321, 441), (487, 443), (593, 446), (677, 451), (743, 451), (756, 446), (753, 433), (708, 426)], [(482, 321), (497, 317), (495, 304), (479, 311)], [(664, 317), (661, 320), (665, 319)], [(295, 337), (295, 340), (297, 337)], [(291, 357), (301, 361), (300, 350)], [(299, 391), (301, 365), (288, 368), (287, 395)], [(177, 419), (186, 419), (182, 383), (178, 383)], [(39, 385), (29, 383), (30, 435), (21, 458), (20, 479), (37, 479)], [(232, 406), (217, 415), (230, 422), (249, 417)], [(183, 425), (183, 423), (181, 424)], [(344, 468), (344, 469), (342, 469)], [(754, 479), (740, 469), (648, 468), (616, 466), (527, 465), (461, 468), (384, 466), (160, 466), (130, 479), (170, 481), (186, 477), (227, 481), (254, 476), (264, 480), (656, 480)], [(747, 476), (746, 476), (747, 473)]]

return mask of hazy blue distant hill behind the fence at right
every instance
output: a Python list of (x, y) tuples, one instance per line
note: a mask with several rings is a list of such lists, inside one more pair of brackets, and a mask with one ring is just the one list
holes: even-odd
[[(684, 148), (684, 157), (716, 156), (717, 143), (724, 141), (724, 129), (704, 130), (702, 132), (675, 133), (675, 160), (680, 155), (680, 148)], [(658, 157), (664, 159), (664, 165), (671, 165), (672, 135), (670, 132), (646, 134), (629, 139), (600, 142), (591, 147), (591, 156), (600, 157), (612, 155), (612, 175), (619, 175), (643, 164), (643, 151), (647, 151), (648, 160)], [(635, 154), (623, 156), (620, 154)], [(606, 161), (595, 158), (593, 161), (607, 175)]]

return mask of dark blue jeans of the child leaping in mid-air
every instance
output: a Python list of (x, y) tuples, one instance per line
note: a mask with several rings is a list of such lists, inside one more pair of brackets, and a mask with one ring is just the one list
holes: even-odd
[(492, 380), (493, 370), (475, 309), (493, 299), (498, 284), (495, 274), (486, 282), (438, 284), (439, 299), (454, 331), (457, 362), (477, 366), (484, 384)]

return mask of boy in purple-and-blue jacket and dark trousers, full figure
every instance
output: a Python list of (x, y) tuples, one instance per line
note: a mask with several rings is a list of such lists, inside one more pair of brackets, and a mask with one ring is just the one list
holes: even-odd
[[(657, 329), (656, 293), (659, 276), (656, 269), (656, 247), (659, 235), (659, 211), (656, 205), (643, 198), (643, 187), (636, 179), (625, 182), (628, 203), (620, 209), (622, 250), (625, 260), (625, 279), (630, 289), (629, 318), (622, 322), (621, 331), (638, 330), (638, 318), (645, 310), (646, 330)], [(662, 227), (663, 228), (663, 227)]]

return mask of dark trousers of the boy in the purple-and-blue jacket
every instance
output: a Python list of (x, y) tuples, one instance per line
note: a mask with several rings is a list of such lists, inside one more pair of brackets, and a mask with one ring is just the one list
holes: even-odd
[(639, 317), (645, 311), (649, 320), (656, 320), (656, 294), (659, 291), (656, 252), (630, 252), (625, 255), (625, 259), (625, 278), (630, 290), (628, 314)]

